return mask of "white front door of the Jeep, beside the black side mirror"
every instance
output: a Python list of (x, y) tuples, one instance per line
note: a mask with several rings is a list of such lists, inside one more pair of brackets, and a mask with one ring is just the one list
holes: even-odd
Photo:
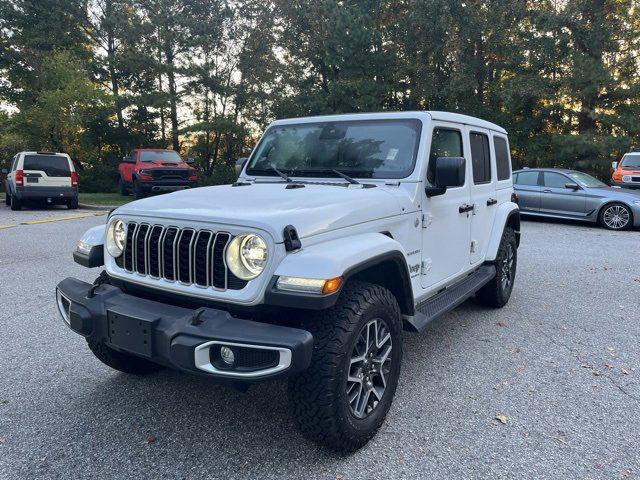
[(469, 268), (471, 213), (460, 207), (471, 204), (468, 140), (462, 128), (434, 123), (426, 185), (434, 185), (438, 157), (465, 157), (465, 183), (449, 188), (443, 195), (427, 198), (422, 192), (422, 275), (424, 288), (446, 283)]

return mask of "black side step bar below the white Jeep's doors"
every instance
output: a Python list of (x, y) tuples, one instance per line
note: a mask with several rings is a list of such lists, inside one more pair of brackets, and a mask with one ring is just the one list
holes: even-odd
[(405, 326), (412, 331), (424, 331), (427, 325), (472, 297), (495, 276), (495, 265), (481, 266), (458, 283), (416, 305), (416, 314), (413, 317), (405, 317)]

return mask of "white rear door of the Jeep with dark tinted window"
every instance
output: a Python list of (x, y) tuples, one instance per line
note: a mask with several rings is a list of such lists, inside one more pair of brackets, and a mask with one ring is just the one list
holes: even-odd
[(484, 259), (489, 242), (496, 205), (495, 154), (491, 147), (491, 133), (482, 128), (467, 129), (471, 148), (471, 244), (472, 264)]

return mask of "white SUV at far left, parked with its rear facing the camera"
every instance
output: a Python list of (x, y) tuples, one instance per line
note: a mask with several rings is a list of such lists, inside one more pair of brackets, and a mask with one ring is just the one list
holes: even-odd
[(27, 202), (78, 208), (78, 174), (66, 153), (20, 152), (3, 173), (5, 203), (12, 210)]

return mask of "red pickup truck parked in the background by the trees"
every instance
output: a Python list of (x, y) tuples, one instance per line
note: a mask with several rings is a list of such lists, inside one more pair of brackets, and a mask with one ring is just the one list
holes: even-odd
[(149, 193), (184, 190), (196, 186), (196, 170), (173, 150), (136, 148), (118, 165), (120, 194), (136, 199)]

